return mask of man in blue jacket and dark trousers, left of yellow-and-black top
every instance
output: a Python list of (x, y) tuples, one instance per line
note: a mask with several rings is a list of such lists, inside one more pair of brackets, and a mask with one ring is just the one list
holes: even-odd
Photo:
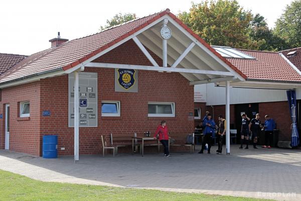
[(210, 148), (212, 144), (212, 134), (214, 133), (215, 129), (215, 122), (211, 119), (210, 113), (207, 115), (207, 120), (203, 122), (203, 126), (205, 127), (203, 134), (204, 134), (204, 140), (202, 143), (202, 149), (199, 151), (199, 154), (202, 154), (204, 152), (206, 144), (208, 144), (208, 154), (210, 154)]

